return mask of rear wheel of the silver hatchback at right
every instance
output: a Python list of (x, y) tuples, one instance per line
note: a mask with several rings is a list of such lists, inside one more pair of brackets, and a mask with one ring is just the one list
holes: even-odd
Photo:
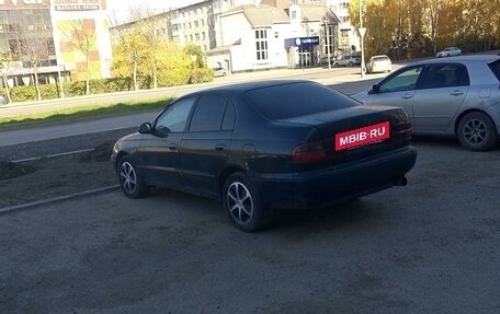
[(491, 118), (479, 112), (465, 115), (457, 129), (461, 144), (471, 151), (487, 151), (498, 142), (497, 128)]

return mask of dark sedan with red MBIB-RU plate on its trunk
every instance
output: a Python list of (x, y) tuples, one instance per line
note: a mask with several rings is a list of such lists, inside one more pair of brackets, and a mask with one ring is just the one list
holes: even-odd
[(410, 128), (401, 108), (362, 106), (316, 82), (249, 82), (178, 98), (120, 139), (111, 160), (126, 196), (160, 186), (214, 197), (250, 232), (275, 208), (406, 185), (417, 156)]

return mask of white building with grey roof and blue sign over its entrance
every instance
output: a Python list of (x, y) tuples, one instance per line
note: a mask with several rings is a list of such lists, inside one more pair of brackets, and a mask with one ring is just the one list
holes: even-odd
[(207, 63), (229, 72), (319, 66), (332, 55), (338, 22), (325, 4), (243, 5), (220, 15), (223, 45)]

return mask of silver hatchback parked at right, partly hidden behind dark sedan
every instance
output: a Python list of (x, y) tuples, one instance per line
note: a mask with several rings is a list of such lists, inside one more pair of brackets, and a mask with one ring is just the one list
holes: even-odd
[(352, 97), (404, 108), (413, 133), (455, 136), (468, 150), (489, 150), (500, 136), (500, 56), (418, 61)]

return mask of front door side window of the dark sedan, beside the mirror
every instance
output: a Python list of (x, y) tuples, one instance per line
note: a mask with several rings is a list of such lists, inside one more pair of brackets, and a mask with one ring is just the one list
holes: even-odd
[(194, 105), (195, 98), (186, 98), (173, 103), (169, 106), (156, 120), (155, 131), (167, 132), (182, 132), (185, 130), (188, 117), (191, 108)]

